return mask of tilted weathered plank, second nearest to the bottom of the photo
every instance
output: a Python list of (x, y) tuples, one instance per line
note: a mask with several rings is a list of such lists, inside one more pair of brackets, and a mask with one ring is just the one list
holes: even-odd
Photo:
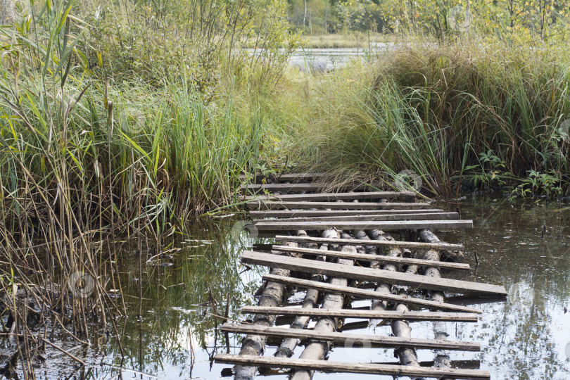
[(341, 332), (312, 331), (308, 329), (285, 329), (283, 327), (266, 327), (256, 324), (224, 323), (222, 325), (222, 331), (236, 334), (313, 339), (317, 341), (329, 341), (335, 344), (358, 342), (374, 347), (413, 347), (425, 348), (427, 350), (481, 351), (481, 344), (479, 342), (435, 341), (421, 338), (399, 338), (398, 336), (347, 334)]

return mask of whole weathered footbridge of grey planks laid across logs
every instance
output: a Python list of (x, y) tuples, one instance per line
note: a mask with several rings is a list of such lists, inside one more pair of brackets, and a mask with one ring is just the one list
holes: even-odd
[[(280, 179), (273, 180), (295, 182), (319, 177), (321, 176), (304, 173), (282, 175)], [(255, 179), (260, 182), (260, 179)], [(265, 287), (262, 286), (258, 293), (262, 300), (272, 299), (272, 306), (267, 306), (267, 303), (263, 306), (264, 303), (260, 303), (260, 306), (242, 308), (244, 314), (255, 315), (254, 321), (262, 317), (265, 321), (271, 321), (269, 324), (227, 323), (223, 325), (222, 331), (248, 334), (248, 339), (244, 342), (258, 337), (255, 341), (260, 343), (254, 352), (259, 355), (265, 350), (265, 338), (271, 337), (273, 342), (274, 339), (278, 339), (282, 343), (277, 350), (277, 357), (251, 355), (252, 347), (248, 346), (245, 349), (246, 346), (242, 346), (241, 355), (217, 354), (215, 361), (236, 365), (236, 379), (251, 379), (255, 373), (252, 367), (291, 369), (292, 380), (310, 379), (315, 370), (449, 379), (489, 379), (487, 371), (452, 369), (449, 367), (449, 363), (452, 363), (450, 360), (447, 360), (445, 362), (447, 364), (444, 363), (443, 367), (441, 360), (428, 364), (419, 362), (417, 358), (408, 360), (410, 355), (415, 357), (415, 350), (418, 349), (436, 350), (438, 355), (442, 353), (445, 355), (448, 350), (479, 351), (481, 350), (479, 343), (453, 341), (445, 337), (411, 338), (409, 334), (400, 334), (402, 327), (407, 326), (408, 322), (429, 321), (441, 327), (445, 322), (476, 322), (477, 316), (482, 312), (478, 308), (440, 302), (439, 298), (426, 299), (425, 292), (468, 294), (480, 297), (476, 299), (481, 300), (481, 303), (490, 296), (504, 299), (506, 291), (502, 286), (419, 274), (443, 269), (469, 270), (468, 264), (457, 262), (458, 260), (443, 262), (424, 258), (424, 253), (433, 252), (430, 250), (440, 251), (441, 257), (452, 260), (460, 258), (462, 254), (457, 252), (463, 250), (462, 244), (443, 243), (438, 239), (419, 242), (415, 236), (419, 232), (419, 236), (423, 239), (425, 232), (431, 229), (469, 228), (472, 226), (471, 220), (459, 220), (460, 216), (457, 213), (447, 213), (432, 208), (428, 202), (415, 202), (414, 194), (409, 191), (374, 189), (374, 191), (360, 192), (314, 193), (329, 187), (318, 179), (313, 183), (242, 186), (243, 190), (248, 191), (296, 193), (243, 198), (247, 201), (246, 208), (250, 210), (250, 217), (254, 219), (250, 231), (257, 229), (261, 234), (277, 232), (275, 240), (284, 243), (265, 244), (262, 248), (264, 252), (245, 251), (241, 261), (243, 264), (271, 267), (272, 270), (281, 270), (286, 274), (265, 274), (262, 277)], [(359, 184), (343, 186), (343, 189), (364, 190), (366, 187)], [(300, 192), (308, 194), (299, 194)], [(311, 192), (313, 194), (310, 194)], [(337, 239), (341, 235), (337, 234), (336, 230), (343, 230), (342, 237), (345, 239)], [(401, 231), (413, 239), (395, 241), (381, 230)], [(324, 231), (326, 237), (318, 237), (319, 231)], [(351, 236), (355, 238), (348, 239)], [(391, 254), (386, 255), (387, 252)], [(397, 254), (394, 255), (394, 252)], [(395, 270), (379, 269), (386, 267)], [(329, 281), (325, 281), (327, 277)], [(382, 284), (380, 286), (384, 286), (386, 291), (362, 289), (358, 287), (359, 284), (372, 285), (374, 289)], [(303, 306), (301, 308), (279, 306), (283, 301), (277, 299), (281, 298), (281, 293), (279, 296), (274, 296), (272, 291), (266, 290), (277, 289), (279, 286), (283, 287), (281, 289), (287, 289), (283, 294), (307, 289)], [(394, 286), (403, 286), (407, 292), (398, 293), (398, 289)], [(370, 286), (365, 287), (370, 288)], [(324, 299), (327, 301), (322, 304), (322, 308), (319, 308), (318, 302)], [(335, 301), (331, 303), (332, 300)], [(353, 300), (374, 300), (376, 304), (384, 303), (384, 306), (377, 308), (377, 305), (373, 305), (372, 310), (369, 308), (357, 310), (351, 308)], [(408, 311), (408, 308), (412, 311)], [(278, 318), (275, 319), (275, 316)], [(287, 318), (289, 322), (286, 322)], [(291, 327), (275, 327), (274, 321), (278, 319), (281, 319), (280, 324), (291, 323)], [(315, 330), (308, 328), (310, 319), (317, 321)], [(345, 319), (357, 319), (357, 321), (344, 324)], [(366, 328), (368, 320), (370, 323), (387, 321), (391, 324), (394, 336), (376, 335), (372, 330), (368, 330), (368, 334), (346, 332)], [(308, 343), (306, 349), (300, 358), (293, 359), (294, 348), (305, 341)], [(350, 348), (354, 350), (393, 348), (402, 365), (324, 360), (329, 350), (339, 345), (362, 347)], [(438, 367), (423, 367), (423, 365), (433, 366), (435, 363)], [(265, 374), (270, 373), (265, 372)]]

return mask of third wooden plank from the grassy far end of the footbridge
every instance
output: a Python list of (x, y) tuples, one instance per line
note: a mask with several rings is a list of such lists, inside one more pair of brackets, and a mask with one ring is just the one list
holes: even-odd
[(362, 191), (357, 193), (315, 193), (315, 194), (280, 194), (258, 195), (244, 197), (248, 201), (360, 201), (374, 199), (412, 200), (416, 194), (413, 191)]

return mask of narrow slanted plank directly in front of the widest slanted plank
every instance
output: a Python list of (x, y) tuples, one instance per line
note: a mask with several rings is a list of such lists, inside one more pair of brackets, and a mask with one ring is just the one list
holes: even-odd
[(264, 274), (262, 278), (264, 281), (274, 281), (290, 286), (299, 286), (303, 288), (317, 289), (320, 291), (342, 293), (348, 296), (360, 296), (362, 298), (367, 298), (372, 300), (385, 300), (388, 302), (404, 303), (405, 305), (416, 305), (422, 308), (427, 308), (429, 310), (474, 312), (476, 314), (482, 313), (480, 309), (469, 308), (468, 306), (451, 305), (449, 303), (434, 302), (431, 300), (424, 300), (423, 298), (398, 296), (397, 294), (392, 294), (392, 293), (379, 293), (377, 291), (358, 289), (352, 286), (336, 286), (319, 281), (296, 279), (293, 277), (285, 277), (285, 276), (275, 276), (274, 274)]

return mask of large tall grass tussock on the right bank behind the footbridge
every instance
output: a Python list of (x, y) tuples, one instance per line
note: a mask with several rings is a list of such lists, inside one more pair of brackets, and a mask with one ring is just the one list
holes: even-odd
[(312, 170), (338, 179), (412, 170), (443, 196), (467, 183), (561, 194), (570, 179), (570, 58), (562, 50), (400, 44), (317, 87), (324, 110), (301, 149)]

